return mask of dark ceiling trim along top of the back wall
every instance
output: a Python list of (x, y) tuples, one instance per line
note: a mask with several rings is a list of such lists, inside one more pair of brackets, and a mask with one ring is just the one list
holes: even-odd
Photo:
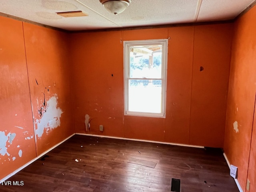
[(210, 24), (226, 24), (226, 23), (233, 23), (233, 22), (234, 20), (206, 21), (206, 22), (196, 22), (196, 23), (164, 24), (164, 25), (136, 26), (136, 27), (123, 27), (123, 28), (94, 29), (94, 30), (78, 30), (78, 31), (68, 31), (68, 32), (81, 33), (81, 32), (125, 31), (125, 30), (140, 30), (140, 29), (169, 28), (169, 27), (183, 27), (183, 26), (199, 26), (199, 25), (210, 25)]

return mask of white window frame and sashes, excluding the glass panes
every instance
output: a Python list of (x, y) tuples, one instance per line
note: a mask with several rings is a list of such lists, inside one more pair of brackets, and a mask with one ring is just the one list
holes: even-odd
[[(124, 41), (124, 115), (130, 116), (146, 116), (165, 118), (166, 117), (166, 84), (167, 84), (167, 57), (168, 57), (168, 39), (154, 39), (154, 40), (135, 40)], [(130, 46), (143, 46), (143, 45), (162, 45), (162, 98), (161, 98), (161, 112), (134, 112), (128, 110), (128, 81), (130, 78)], [(138, 79), (138, 78), (136, 78)], [(147, 80), (147, 78), (142, 78)], [(150, 78), (148, 78), (150, 79)], [(155, 79), (154, 79), (155, 80)]]

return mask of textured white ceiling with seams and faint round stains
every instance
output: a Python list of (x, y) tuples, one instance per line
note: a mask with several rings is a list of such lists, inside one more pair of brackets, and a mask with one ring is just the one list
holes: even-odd
[[(132, 0), (117, 15), (99, 0), (4, 0), (0, 12), (65, 30), (92, 30), (233, 19), (254, 0)], [(64, 18), (62, 11), (89, 16)]]

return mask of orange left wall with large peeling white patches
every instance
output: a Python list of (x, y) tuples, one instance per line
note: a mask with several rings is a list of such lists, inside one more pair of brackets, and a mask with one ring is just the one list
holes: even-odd
[(4, 17), (0, 25), (1, 180), (74, 134), (74, 118), (68, 34)]

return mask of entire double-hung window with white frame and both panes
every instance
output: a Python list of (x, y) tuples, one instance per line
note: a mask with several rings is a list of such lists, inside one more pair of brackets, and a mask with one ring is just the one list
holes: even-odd
[(124, 41), (124, 114), (165, 117), (168, 40)]

